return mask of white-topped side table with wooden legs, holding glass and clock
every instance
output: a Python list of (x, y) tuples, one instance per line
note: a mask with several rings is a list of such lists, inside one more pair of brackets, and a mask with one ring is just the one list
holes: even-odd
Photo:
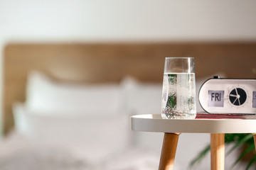
[[(161, 115), (134, 115), (131, 117), (132, 130), (164, 132), (164, 141), (159, 170), (171, 170), (174, 166), (178, 135), (180, 133), (210, 133), (210, 169), (225, 169), (225, 133), (256, 132), (255, 115), (234, 117), (200, 113), (193, 120), (162, 119)], [(191, 147), (193, 144), (190, 144)], [(256, 142), (255, 142), (256, 146)]]

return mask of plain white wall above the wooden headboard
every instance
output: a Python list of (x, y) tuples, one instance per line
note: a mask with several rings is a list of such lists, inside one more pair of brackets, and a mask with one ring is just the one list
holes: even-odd
[(0, 0), (1, 40), (255, 40), (256, 1)]

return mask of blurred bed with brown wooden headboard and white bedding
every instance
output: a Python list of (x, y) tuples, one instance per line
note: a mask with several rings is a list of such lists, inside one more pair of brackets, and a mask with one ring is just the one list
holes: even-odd
[[(0, 168), (157, 169), (161, 134), (131, 132), (129, 116), (159, 113), (164, 57), (195, 57), (197, 90), (256, 75), (254, 42), (6, 45)], [(208, 142), (183, 136), (176, 169)]]

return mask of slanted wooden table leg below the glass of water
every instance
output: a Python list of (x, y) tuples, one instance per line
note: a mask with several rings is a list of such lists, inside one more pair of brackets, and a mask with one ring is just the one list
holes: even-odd
[(181, 133), (164, 133), (159, 170), (173, 169), (176, 149), (178, 145), (178, 135), (180, 134)]

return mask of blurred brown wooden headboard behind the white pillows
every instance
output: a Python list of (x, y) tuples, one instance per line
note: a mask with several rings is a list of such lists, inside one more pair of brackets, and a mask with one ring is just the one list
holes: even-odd
[(14, 126), (12, 104), (26, 100), (26, 77), (33, 69), (78, 84), (118, 82), (125, 75), (161, 82), (164, 57), (195, 57), (196, 79), (216, 72), (256, 77), (256, 42), (9, 44), (4, 50), (4, 132)]

